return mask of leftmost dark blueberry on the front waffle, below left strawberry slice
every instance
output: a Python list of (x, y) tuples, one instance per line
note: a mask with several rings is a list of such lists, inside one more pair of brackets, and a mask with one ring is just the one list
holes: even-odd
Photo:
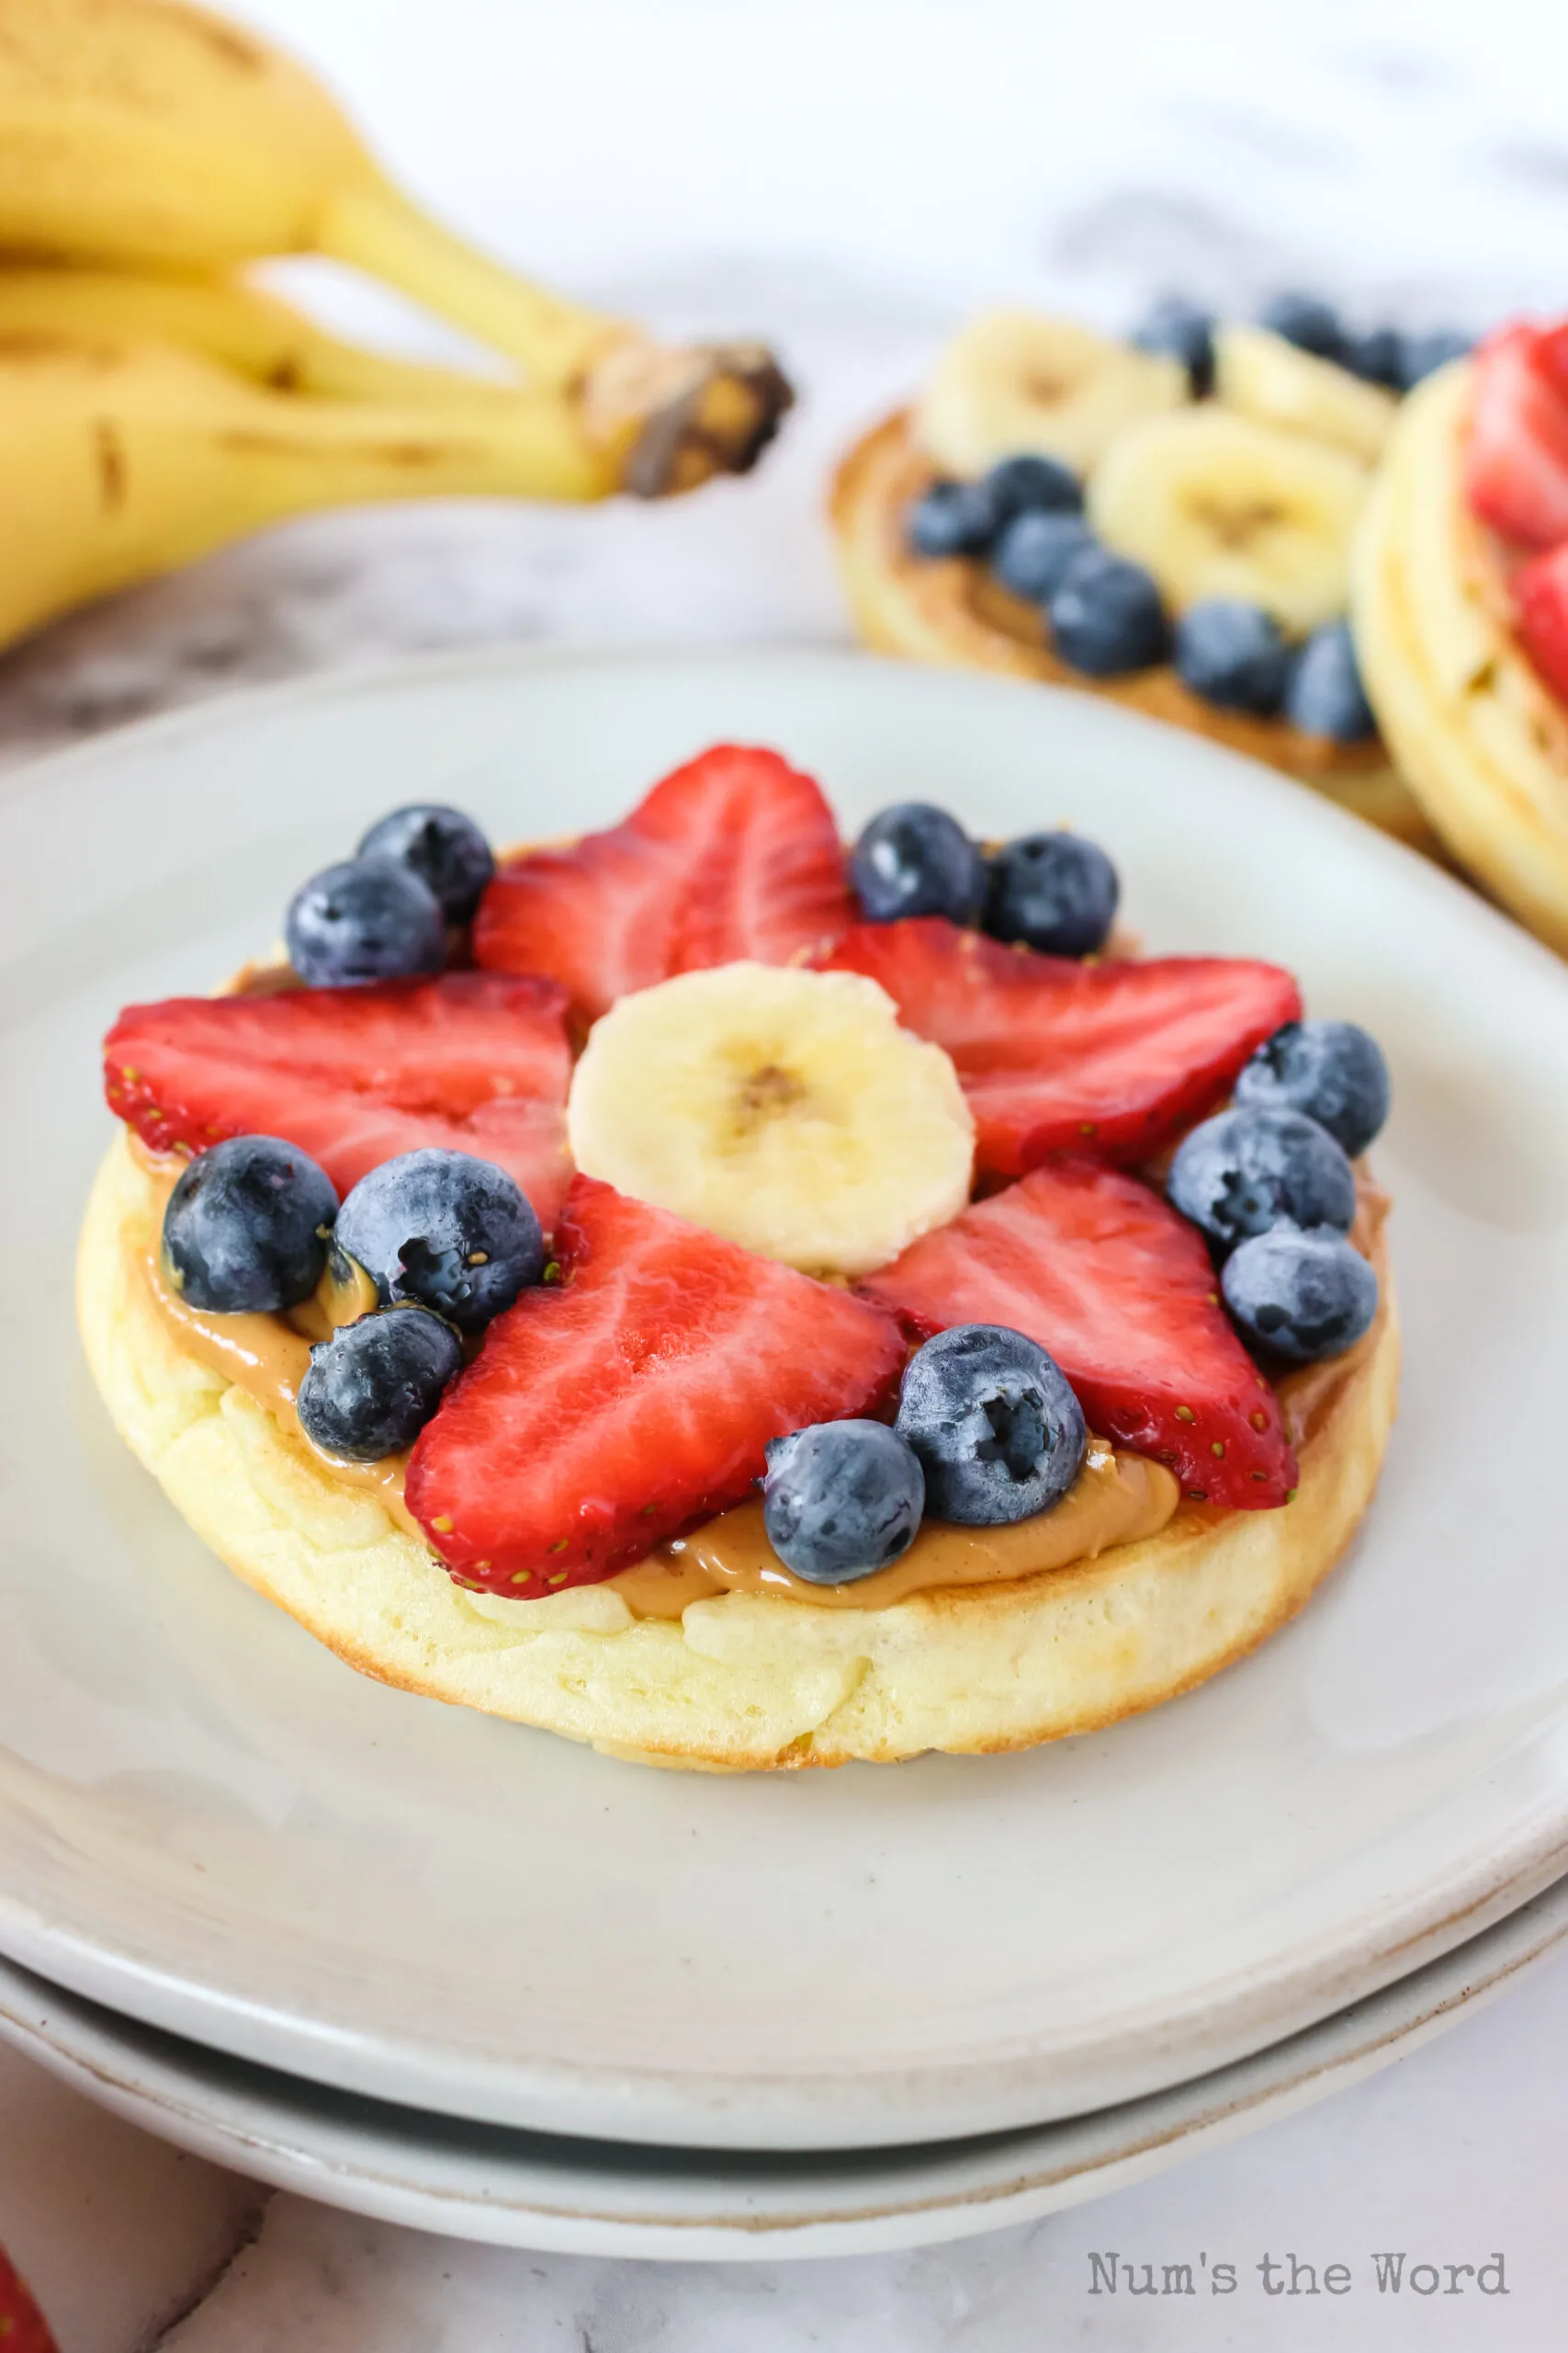
[(162, 1252), (186, 1306), (277, 1313), (327, 1268), (339, 1195), (315, 1160), (277, 1136), (230, 1136), (197, 1153), (169, 1193)]

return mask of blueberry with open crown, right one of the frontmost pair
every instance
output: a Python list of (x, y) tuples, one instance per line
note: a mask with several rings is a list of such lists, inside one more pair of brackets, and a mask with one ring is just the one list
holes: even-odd
[(929, 1339), (905, 1367), (896, 1431), (926, 1473), (926, 1511), (961, 1527), (1051, 1511), (1088, 1442), (1056, 1360), (1001, 1325)]

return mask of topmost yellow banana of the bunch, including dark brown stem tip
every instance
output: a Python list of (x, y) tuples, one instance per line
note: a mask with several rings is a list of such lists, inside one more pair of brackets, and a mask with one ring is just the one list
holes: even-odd
[(174, 273), (357, 264), (581, 398), (588, 431), (637, 452), (639, 492), (745, 471), (790, 405), (762, 346), (665, 353), (454, 238), (301, 66), (183, 0), (0, 0), (0, 247)]

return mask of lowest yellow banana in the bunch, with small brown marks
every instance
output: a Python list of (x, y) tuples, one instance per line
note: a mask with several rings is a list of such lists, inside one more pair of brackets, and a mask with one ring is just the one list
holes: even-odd
[(602, 499), (552, 393), (433, 409), (268, 391), (150, 341), (0, 334), (0, 645), (230, 539), (367, 499)]

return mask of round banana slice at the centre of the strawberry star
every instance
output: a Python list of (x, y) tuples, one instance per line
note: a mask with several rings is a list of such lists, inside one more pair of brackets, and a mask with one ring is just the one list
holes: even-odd
[(969, 1200), (957, 1073), (858, 972), (719, 965), (621, 998), (567, 1127), (588, 1176), (816, 1275), (886, 1266)]

